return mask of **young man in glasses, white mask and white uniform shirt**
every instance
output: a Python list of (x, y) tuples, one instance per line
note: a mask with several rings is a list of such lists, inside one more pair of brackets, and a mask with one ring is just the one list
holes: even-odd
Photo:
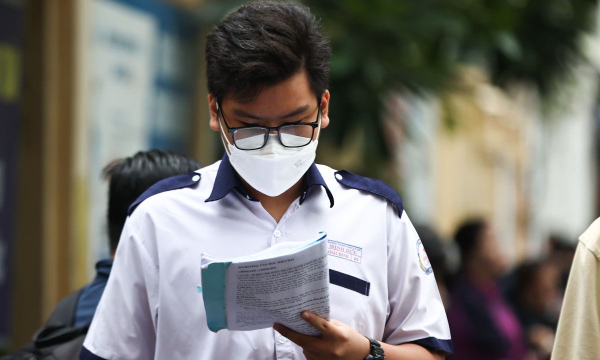
[[(245, 5), (208, 35), (210, 125), (226, 154), (132, 205), (82, 359), (442, 359), (452, 351), (398, 194), (313, 162), (329, 124), (329, 53), (314, 16), (295, 4)], [(335, 320), (302, 314), (321, 337), (279, 324), (209, 331), (196, 293), (203, 252), (245, 256), (320, 231), (329, 268), (347, 280), (330, 287)]]

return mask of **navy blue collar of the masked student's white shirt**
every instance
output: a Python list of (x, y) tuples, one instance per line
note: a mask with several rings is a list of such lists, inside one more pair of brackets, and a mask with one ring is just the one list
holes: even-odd
[[(300, 204), (307, 199), (308, 194), (310, 194), (310, 190), (315, 185), (321, 185), (325, 188), (327, 192), (327, 197), (329, 197), (330, 208), (334, 206), (334, 196), (329, 191), (329, 188), (325, 184), (325, 180), (323, 180), (323, 176), (317, 169), (315, 163), (313, 163), (307, 170), (304, 175), (304, 181), (302, 181), (302, 194), (300, 196)], [(215, 184), (212, 187), (211, 196), (205, 200), (205, 202), (211, 202), (215, 200), (223, 199), (227, 194), (235, 189), (244, 196), (246, 199), (251, 201), (258, 201), (258, 199), (254, 198), (242, 186), (242, 182), (238, 178), (238, 173), (235, 172), (233, 166), (229, 162), (229, 155), (225, 153), (223, 158), (221, 159), (221, 164), (219, 164), (219, 170), (217, 171), (217, 177), (215, 178)]]

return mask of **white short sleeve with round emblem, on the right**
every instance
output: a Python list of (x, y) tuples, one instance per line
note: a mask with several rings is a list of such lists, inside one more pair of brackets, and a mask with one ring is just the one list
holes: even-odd
[(388, 238), (389, 316), (383, 341), (451, 353), (446, 311), (419, 236), (406, 212), (389, 221), (394, 225)]

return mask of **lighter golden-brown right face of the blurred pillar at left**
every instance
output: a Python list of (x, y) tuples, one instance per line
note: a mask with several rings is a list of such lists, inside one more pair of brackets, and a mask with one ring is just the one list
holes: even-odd
[(46, 1), (44, 11), (42, 315), (70, 292), (71, 149), (73, 148), (74, 1)]

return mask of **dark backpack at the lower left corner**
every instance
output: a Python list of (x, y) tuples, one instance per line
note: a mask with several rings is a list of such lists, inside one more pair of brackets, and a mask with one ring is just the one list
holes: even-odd
[(71, 293), (56, 305), (46, 325), (33, 341), (0, 360), (77, 360), (88, 333), (89, 323), (73, 327), (73, 319), (83, 288)]

